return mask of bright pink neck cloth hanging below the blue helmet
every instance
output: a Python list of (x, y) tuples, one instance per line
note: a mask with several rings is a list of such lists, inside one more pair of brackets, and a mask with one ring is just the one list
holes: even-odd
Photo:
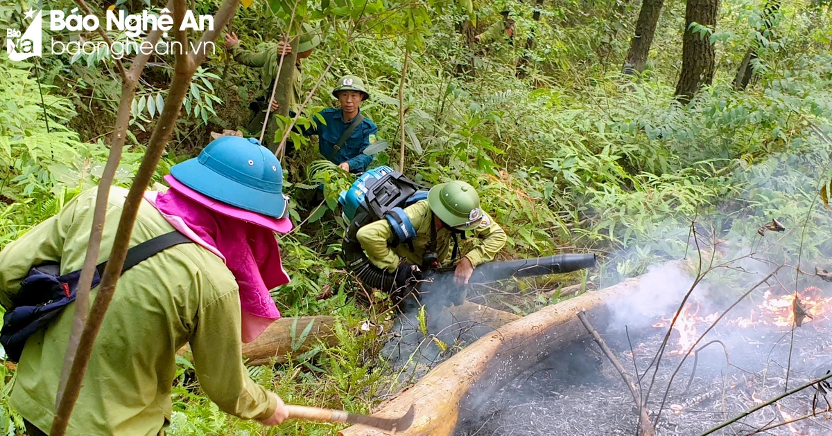
[[(215, 213), (176, 188), (158, 194), (154, 206), (175, 228), (174, 221), (181, 220), (187, 236), (215, 247), (225, 257), (225, 266), (240, 287), (243, 342), (255, 340), (280, 318), (269, 290), (288, 283), (289, 276), (280, 262), (280, 247), (272, 230)], [(195, 235), (201, 240), (193, 238)]]

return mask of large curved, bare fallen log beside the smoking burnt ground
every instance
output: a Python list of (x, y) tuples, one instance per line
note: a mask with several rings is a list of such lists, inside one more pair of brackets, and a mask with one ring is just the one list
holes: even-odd
[[(666, 267), (682, 269), (683, 263)], [(401, 436), (450, 436), (460, 415), (476, 410), (493, 393), (542, 357), (573, 340), (587, 336), (575, 317), (586, 310), (597, 326), (606, 326), (608, 302), (638, 291), (639, 277), (600, 291), (547, 306), (483, 336), (438, 365), (416, 385), (380, 405), (375, 415), (399, 417), (415, 406), (414, 424)], [(382, 436), (383, 432), (362, 425), (341, 430), (339, 436)]]

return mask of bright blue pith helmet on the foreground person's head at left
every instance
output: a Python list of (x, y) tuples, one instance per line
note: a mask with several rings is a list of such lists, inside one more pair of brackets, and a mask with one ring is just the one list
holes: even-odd
[(255, 138), (222, 136), (199, 156), (171, 167), (171, 175), (196, 192), (255, 213), (283, 218), (283, 169)]

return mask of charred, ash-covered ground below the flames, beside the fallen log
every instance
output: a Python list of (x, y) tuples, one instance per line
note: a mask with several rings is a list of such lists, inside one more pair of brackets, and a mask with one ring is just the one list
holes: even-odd
[[(812, 322), (795, 329), (789, 389), (813, 380), (813, 374), (823, 374), (825, 368), (832, 370), (832, 337), (827, 326)], [(656, 329), (633, 338), (639, 374), (643, 375), (650, 364), (664, 333), (664, 329)], [(635, 375), (626, 336), (602, 336), (626, 370)], [(726, 357), (721, 345), (715, 343), (701, 351), (690, 389), (685, 387), (691, 376), (692, 356), (676, 376), (656, 434), (696, 436), (754, 407), (757, 403), (752, 394), (759, 399), (770, 399), (785, 392), (790, 329), (713, 331), (702, 344), (714, 339), (723, 340), (731, 361), (724, 403)], [(673, 337), (669, 349), (676, 348), (675, 345), (676, 337)], [(680, 361), (680, 355), (665, 355), (648, 404), (651, 416), (659, 409), (671, 373)], [(650, 371), (641, 380), (641, 389), (647, 389), (652, 374)], [(797, 418), (810, 414), (815, 392), (814, 388), (805, 389), (782, 400), (782, 409), (766, 407), (715, 434), (750, 434), (766, 425), (781, 423), (789, 415)], [(829, 398), (832, 402), (832, 394)], [(681, 404), (684, 408), (674, 413), (669, 409), (671, 404)], [(817, 417), (794, 424), (794, 431), (784, 426), (760, 434), (832, 435), (832, 414), (820, 413), (826, 407), (825, 400), (819, 397)], [(634, 435), (637, 416), (621, 376), (592, 340), (583, 340), (551, 355), (503, 387), (458, 426), (456, 435)]]

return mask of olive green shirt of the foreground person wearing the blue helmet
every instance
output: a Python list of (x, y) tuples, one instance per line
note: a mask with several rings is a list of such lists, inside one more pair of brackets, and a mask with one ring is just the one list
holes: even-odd
[[(126, 189), (112, 188), (98, 262), (109, 256)], [(0, 305), (8, 309), (30, 267), (60, 261), (62, 273), (81, 269), (96, 189), (32, 228), (0, 252)], [(174, 229), (143, 202), (131, 246)], [(91, 292), (92, 300), (98, 288)], [(39, 429), (52, 427), (55, 396), (75, 305), (27, 340), (10, 402)], [(181, 244), (126, 271), (118, 282), (72, 413), (67, 434), (163, 434), (171, 417), (176, 350), (191, 343), (201, 388), (220, 409), (243, 419), (266, 419), (277, 405), (250, 379), (240, 347), (240, 296), (220, 257), (196, 243)]]

